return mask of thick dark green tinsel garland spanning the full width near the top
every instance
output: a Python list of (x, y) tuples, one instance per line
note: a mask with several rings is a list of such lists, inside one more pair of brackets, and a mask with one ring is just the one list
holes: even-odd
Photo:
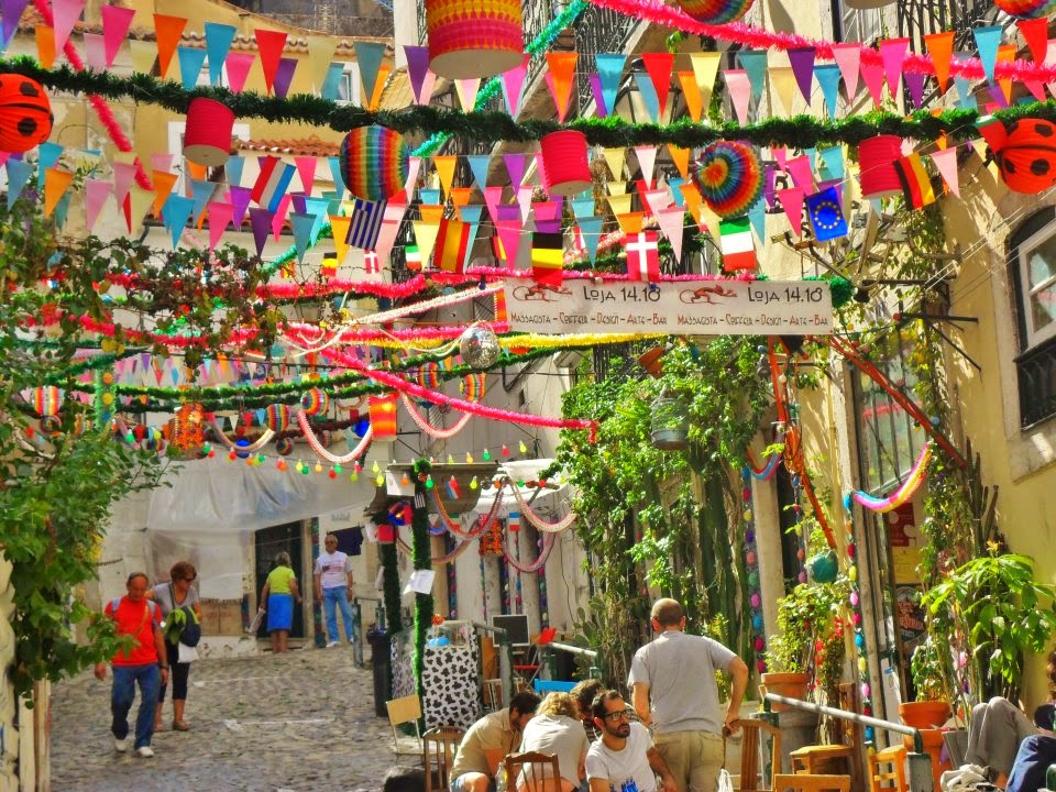
[[(135, 73), (119, 77), (110, 72), (75, 72), (68, 65), (45, 69), (30, 57), (0, 58), (0, 73), (21, 74), (42, 85), (73, 94), (96, 94), (107, 99), (132, 99), (143, 105), (157, 105), (173, 112), (186, 113), (195, 97), (217, 99), (230, 107), (239, 118), (260, 118), (276, 123), (300, 122), (329, 127), (338, 132), (367, 124), (382, 124), (397, 132), (426, 132), (462, 135), (476, 141), (538, 141), (544, 134), (562, 129), (583, 132), (593, 145), (606, 147), (659, 145), (672, 143), (691, 148), (716, 140), (744, 140), (756, 145), (784, 145), (810, 148), (840, 143), (858, 144), (867, 138), (893, 134), (914, 140), (935, 140), (942, 134), (955, 142), (978, 136), (976, 110), (946, 110), (932, 116), (917, 110), (909, 117), (873, 111), (861, 116), (828, 121), (814, 116), (771, 118), (755, 124), (734, 121), (708, 127), (682, 118), (672, 124), (630, 123), (617, 116), (576, 118), (566, 124), (553, 120), (529, 119), (517, 122), (505, 112), (462, 112), (448, 108), (416, 105), (399, 111), (371, 112), (360, 107), (339, 105), (330, 99), (298, 94), (286, 99), (265, 97), (253, 91), (234, 94), (227, 88), (199, 86), (185, 90), (173, 80)], [(1056, 121), (1056, 101), (1032, 102), (998, 110), (992, 116), (1005, 122), (1022, 118)]]

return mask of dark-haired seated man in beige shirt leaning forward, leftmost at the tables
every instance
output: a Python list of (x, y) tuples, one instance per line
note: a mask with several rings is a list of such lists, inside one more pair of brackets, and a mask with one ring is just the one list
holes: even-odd
[(488, 792), (495, 789), (495, 770), (507, 754), (515, 754), (520, 736), (539, 706), (539, 696), (521, 691), (509, 708), (488, 713), (462, 738), (451, 766), (451, 792)]

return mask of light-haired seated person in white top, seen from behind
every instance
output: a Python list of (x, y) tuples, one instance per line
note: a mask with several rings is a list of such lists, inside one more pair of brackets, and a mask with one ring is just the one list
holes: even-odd
[[(579, 719), (579, 707), (568, 693), (550, 693), (536, 716), (525, 726), (525, 736), (520, 743), (520, 752), (539, 751), (558, 757), (561, 772), (560, 792), (572, 792), (583, 778), (583, 762), (590, 744)], [(537, 789), (521, 774), (517, 779), (517, 792), (556, 792), (551, 784)]]

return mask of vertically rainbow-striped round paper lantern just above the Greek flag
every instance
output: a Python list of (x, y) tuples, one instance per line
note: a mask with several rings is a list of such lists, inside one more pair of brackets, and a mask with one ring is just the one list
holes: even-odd
[(403, 135), (387, 127), (359, 127), (341, 141), (341, 178), (356, 198), (388, 200), (404, 189), (409, 153)]

